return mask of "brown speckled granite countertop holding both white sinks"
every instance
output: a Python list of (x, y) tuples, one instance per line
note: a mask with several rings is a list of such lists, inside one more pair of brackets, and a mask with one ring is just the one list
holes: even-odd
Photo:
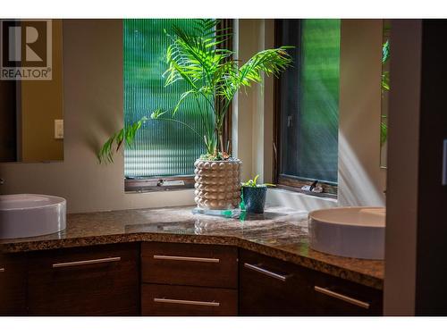
[(59, 233), (0, 239), (4, 253), (122, 242), (157, 241), (242, 247), (283, 261), (383, 289), (384, 261), (327, 255), (309, 248), (308, 213), (271, 207), (265, 214), (223, 218), (192, 214), (191, 207), (68, 214)]

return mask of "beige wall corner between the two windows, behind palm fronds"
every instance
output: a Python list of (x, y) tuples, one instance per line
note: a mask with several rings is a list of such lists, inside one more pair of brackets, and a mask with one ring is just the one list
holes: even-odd
[[(234, 49), (240, 64), (260, 50), (274, 47), (274, 20), (235, 20)], [(242, 89), (233, 104), (233, 155), (243, 162), (242, 180), (259, 174), (260, 182), (273, 180), (274, 80)], [(238, 140), (239, 139), (239, 140)]]

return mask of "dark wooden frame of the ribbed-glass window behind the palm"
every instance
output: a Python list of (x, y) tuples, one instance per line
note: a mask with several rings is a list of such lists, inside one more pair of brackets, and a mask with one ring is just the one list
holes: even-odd
[[(148, 19), (150, 20), (150, 19)], [(217, 29), (233, 29), (232, 19), (219, 19)], [(232, 50), (233, 38), (230, 37), (223, 41), (218, 47)], [(217, 105), (219, 108), (219, 106)], [(232, 152), (232, 104), (228, 108), (228, 112), (223, 123), (223, 143), (230, 143), (230, 153)], [(166, 181), (180, 181), (184, 185), (164, 185)], [(125, 178), (124, 177), (124, 192), (126, 193), (146, 193), (157, 191), (169, 191), (178, 189), (194, 188), (194, 175), (174, 175), (174, 176), (154, 176), (148, 178)]]

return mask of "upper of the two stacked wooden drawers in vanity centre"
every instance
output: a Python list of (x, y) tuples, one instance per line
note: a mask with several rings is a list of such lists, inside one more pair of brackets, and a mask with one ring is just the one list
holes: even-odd
[(236, 289), (236, 247), (181, 243), (143, 243), (142, 281), (155, 284), (190, 285)]

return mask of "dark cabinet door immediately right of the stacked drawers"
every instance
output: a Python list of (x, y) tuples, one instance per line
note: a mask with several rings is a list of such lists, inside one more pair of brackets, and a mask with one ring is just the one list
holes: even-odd
[(291, 264), (240, 250), (240, 314), (310, 314), (308, 271), (294, 270)]

